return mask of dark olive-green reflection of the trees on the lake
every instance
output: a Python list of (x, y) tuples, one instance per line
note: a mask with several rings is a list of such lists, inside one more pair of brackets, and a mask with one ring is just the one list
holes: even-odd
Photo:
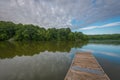
[(73, 47), (82, 47), (84, 42), (0, 42), (0, 58), (34, 55), (40, 52), (69, 52)]

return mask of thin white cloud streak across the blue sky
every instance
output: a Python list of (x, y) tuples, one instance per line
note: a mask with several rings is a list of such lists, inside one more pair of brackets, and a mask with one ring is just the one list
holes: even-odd
[(80, 28), (79, 30), (90, 30), (95, 28), (104, 28), (104, 27), (112, 27), (112, 26), (120, 26), (120, 22), (109, 23), (101, 26), (89, 26), (89, 27)]

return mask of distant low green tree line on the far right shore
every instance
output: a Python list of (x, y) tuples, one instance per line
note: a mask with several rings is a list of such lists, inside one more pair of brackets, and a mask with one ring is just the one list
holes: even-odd
[(120, 34), (88, 35), (89, 40), (120, 40)]

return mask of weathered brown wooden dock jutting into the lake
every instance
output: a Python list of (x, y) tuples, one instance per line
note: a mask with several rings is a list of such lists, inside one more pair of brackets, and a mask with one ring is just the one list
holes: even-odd
[(77, 53), (64, 80), (110, 80), (95, 57), (88, 52)]

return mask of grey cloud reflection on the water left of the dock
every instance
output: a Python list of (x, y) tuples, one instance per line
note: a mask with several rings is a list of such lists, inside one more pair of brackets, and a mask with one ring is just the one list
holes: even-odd
[(0, 60), (0, 80), (63, 80), (71, 64), (68, 54), (41, 52)]

